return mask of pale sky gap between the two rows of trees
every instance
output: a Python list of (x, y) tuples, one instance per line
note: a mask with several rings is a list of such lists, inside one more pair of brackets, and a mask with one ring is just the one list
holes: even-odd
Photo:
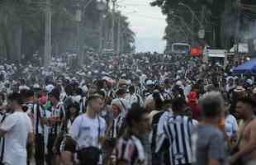
[(165, 16), (159, 7), (151, 7), (149, 2), (151, 0), (119, 0), (117, 9), (129, 17), (130, 28), (136, 34), (136, 52), (163, 53)]

